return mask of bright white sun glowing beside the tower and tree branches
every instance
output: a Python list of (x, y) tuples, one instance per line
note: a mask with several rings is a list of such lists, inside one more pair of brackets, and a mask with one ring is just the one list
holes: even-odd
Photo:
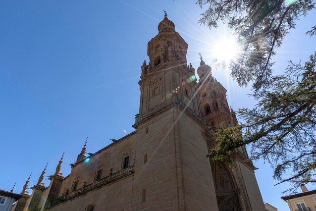
[(234, 61), (240, 51), (240, 46), (234, 37), (222, 38), (214, 45), (214, 57), (218, 63)]

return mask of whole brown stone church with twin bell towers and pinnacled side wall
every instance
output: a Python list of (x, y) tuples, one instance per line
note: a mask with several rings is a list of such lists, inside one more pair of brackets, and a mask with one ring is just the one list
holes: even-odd
[(62, 156), (47, 187), (46, 167), (31, 193), (29, 177), (12, 210), (266, 210), (245, 147), (231, 167), (206, 156), (212, 133), (237, 124), (226, 89), (202, 57), (197, 82), (188, 44), (167, 14), (158, 31), (141, 66), (135, 131), (95, 153), (85, 142), (68, 176)]

